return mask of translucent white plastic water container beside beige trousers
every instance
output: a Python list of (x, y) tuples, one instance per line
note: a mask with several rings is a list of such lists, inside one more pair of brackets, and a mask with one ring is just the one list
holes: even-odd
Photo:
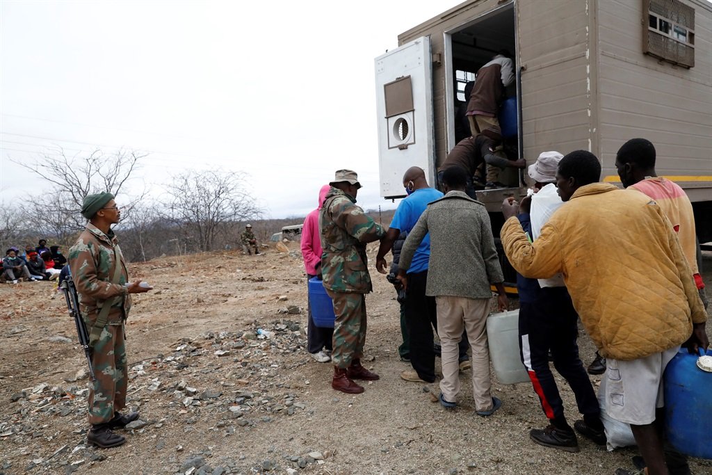
[(519, 357), (519, 310), (493, 313), (487, 317), (487, 342), (497, 379), (503, 385), (529, 382)]

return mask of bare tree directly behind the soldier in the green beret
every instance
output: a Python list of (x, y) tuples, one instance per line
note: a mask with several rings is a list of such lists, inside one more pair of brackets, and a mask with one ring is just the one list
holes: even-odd
[[(41, 231), (66, 239), (86, 224), (80, 214), (84, 197), (106, 191), (119, 194), (145, 156), (123, 150), (105, 155), (95, 150), (85, 157), (67, 157), (64, 150), (58, 148), (56, 154), (45, 155), (30, 164), (15, 161), (51, 184), (43, 196), (28, 199), (28, 214), (38, 219), (37, 225), (43, 227)], [(132, 197), (122, 206), (122, 212), (130, 214), (143, 197), (145, 192)]]

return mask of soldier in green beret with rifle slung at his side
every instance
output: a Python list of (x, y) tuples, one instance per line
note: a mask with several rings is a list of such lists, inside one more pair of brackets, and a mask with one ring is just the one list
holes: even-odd
[(112, 429), (138, 419), (137, 412), (119, 412), (126, 406), (128, 383), (124, 323), (131, 308), (129, 294), (147, 292), (150, 287), (141, 286), (140, 280), (127, 283), (126, 263), (111, 229), (121, 217), (114, 195), (88, 195), (82, 215), (89, 222), (69, 250), (69, 266), (90, 334), (95, 373), (89, 390), (91, 429), (87, 442), (96, 447), (117, 447), (126, 439)]

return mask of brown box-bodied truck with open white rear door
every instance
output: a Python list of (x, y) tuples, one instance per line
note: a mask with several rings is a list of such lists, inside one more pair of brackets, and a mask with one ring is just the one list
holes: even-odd
[[(656, 172), (688, 194), (699, 241), (712, 241), (710, 2), (468, 0), (401, 33), (398, 45), (375, 59), (385, 199), (404, 197), (411, 166), (436, 183), (456, 145), (464, 86), (506, 49), (515, 64), (516, 152), (527, 165), (540, 152), (588, 150), (602, 180), (619, 184), (617, 150), (647, 138)], [(525, 170), (503, 177), (506, 188), (477, 192), (496, 235), (503, 199), (526, 193)]]

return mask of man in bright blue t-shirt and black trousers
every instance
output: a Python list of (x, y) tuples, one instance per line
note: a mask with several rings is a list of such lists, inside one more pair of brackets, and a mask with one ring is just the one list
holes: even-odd
[[(410, 167), (403, 175), (403, 187), (407, 197), (398, 205), (391, 225), (382, 239), (376, 257), (376, 268), (386, 273), (385, 255), (391, 250), (393, 242), (402, 232), (410, 232), (423, 214), (428, 203), (443, 197), (438, 190), (428, 186), (425, 172), (419, 167)], [(430, 259), (430, 236), (426, 235), (413, 256), (408, 269), (408, 291), (405, 301), (405, 320), (410, 337), (410, 362), (413, 370), (401, 373), (406, 381), (435, 381), (435, 350), (433, 348), (433, 327), (437, 328), (435, 298), (425, 295)], [(461, 345), (467, 351), (467, 343)]]

